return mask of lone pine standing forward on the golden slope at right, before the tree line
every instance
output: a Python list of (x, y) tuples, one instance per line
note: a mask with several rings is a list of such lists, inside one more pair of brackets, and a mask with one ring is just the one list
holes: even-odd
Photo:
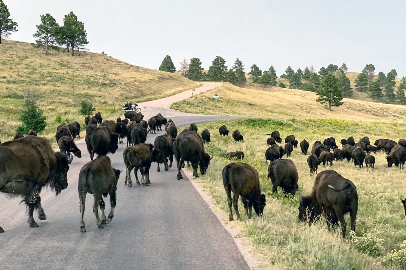
[(338, 80), (332, 74), (327, 74), (322, 80), (320, 88), (316, 89), (318, 98), (317, 102), (328, 105), (328, 110), (331, 111), (331, 106), (338, 107), (343, 105), (343, 96), (341, 90), (338, 89)]

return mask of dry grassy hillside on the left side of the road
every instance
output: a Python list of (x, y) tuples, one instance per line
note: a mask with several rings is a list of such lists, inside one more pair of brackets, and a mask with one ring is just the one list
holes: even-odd
[[(178, 74), (133, 66), (103, 54), (50, 51), (30, 43), (8, 41), (0, 45), (0, 139), (14, 136), (27, 91), (35, 91), (47, 116), (44, 135), (54, 137), (55, 118), (78, 121), (80, 101), (90, 101), (104, 118), (122, 115), (126, 100), (149, 101), (201, 85)], [(111, 96), (115, 96), (115, 109)]]

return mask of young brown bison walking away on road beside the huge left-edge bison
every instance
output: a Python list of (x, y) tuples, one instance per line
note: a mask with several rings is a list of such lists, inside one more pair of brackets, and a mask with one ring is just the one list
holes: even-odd
[[(102, 229), (106, 224), (106, 214), (104, 209), (106, 203), (103, 196), (110, 197), (111, 210), (108, 219), (111, 221), (114, 216), (114, 208), (116, 207), (116, 190), (117, 182), (120, 178), (120, 170), (111, 167), (111, 161), (108, 156), (100, 156), (99, 158), (86, 163), (79, 173), (79, 205), (80, 205), (80, 231), (86, 232), (84, 227), (84, 206), (86, 201), (86, 194), (93, 194), (93, 213), (96, 216), (96, 224), (99, 229)], [(99, 218), (99, 205), (102, 210), (102, 218)]]

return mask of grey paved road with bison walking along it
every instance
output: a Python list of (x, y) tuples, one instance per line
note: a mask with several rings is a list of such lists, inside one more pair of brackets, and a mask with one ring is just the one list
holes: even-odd
[[(167, 109), (167, 103), (162, 107), (154, 107), (151, 102), (148, 105), (141, 104), (145, 116), (165, 111), (164, 116), (170, 116), (177, 126), (232, 118), (181, 116)], [(147, 142), (153, 143), (162, 134), (164, 131), (148, 135)], [(233, 238), (190, 181), (176, 180), (176, 162), (167, 172), (163, 166), (157, 172), (153, 163), (150, 186), (134, 185), (135, 180), (132, 188), (125, 186), (124, 144), (110, 155), (113, 167), (123, 170), (117, 186), (114, 219), (104, 229), (98, 229), (92, 210), (93, 196), (88, 194), (86, 233), (80, 233), (78, 175), (90, 158), (84, 140), (76, 143), (82, 150), (82, 159), (73, 159), (68, 189), (58, 197), (51, 191), (41, 193), (48, 219), (36, 218), (39, 228), (28, 226), (25, 206), (18, 204), (20, 199), (0, 195), (1, 226), (6, 231), (0, 234), (2, 270), (249, 269)]]

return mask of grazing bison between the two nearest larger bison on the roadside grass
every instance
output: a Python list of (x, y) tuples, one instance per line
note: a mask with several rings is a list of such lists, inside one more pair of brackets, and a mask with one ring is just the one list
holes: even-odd
[(278, 191), (278, 186), (283, 193), (295, 195), (298, 190), (298, 171), (290, 159), (277, 159), (268, 166), (268, 178), (272, 182), (272, 193)]

